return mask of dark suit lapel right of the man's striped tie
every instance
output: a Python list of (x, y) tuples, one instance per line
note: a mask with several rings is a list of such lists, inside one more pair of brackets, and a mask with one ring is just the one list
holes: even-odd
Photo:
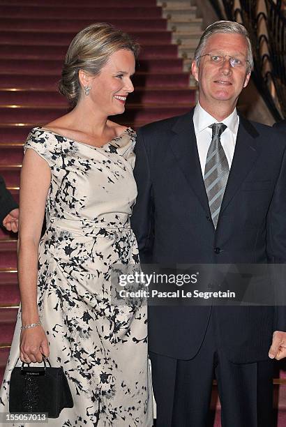
[(232, 167), (230, 168), (220, 213), (223, 212), (237, 190), (239, 190), (241, 183), (246, 179), (248, 172), (250, 172), (259, 155), (258, 136), (259, 133), (257, 133), (250, 121), (240, 116), (234, 158), (232, 159)]

